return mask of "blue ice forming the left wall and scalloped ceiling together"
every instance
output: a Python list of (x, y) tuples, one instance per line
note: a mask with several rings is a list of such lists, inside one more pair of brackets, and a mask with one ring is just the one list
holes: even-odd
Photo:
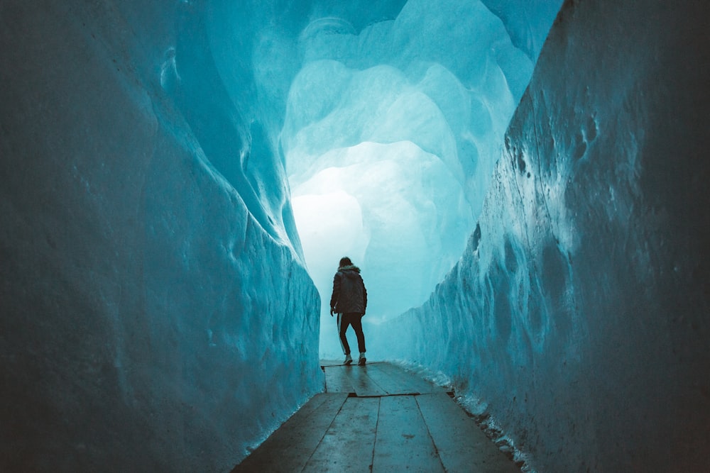
[(518, 6), (2, 2), (2, 469), (229, 469), (322, 389), (305, 255), (425, 300), (552, 16)]

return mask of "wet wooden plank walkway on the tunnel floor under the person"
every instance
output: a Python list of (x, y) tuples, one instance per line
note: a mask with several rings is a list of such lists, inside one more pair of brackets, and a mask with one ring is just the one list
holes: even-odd
[(321, 365), (326, 391), (232, 473), (520, 473), (442, 387), (390, 363)]

